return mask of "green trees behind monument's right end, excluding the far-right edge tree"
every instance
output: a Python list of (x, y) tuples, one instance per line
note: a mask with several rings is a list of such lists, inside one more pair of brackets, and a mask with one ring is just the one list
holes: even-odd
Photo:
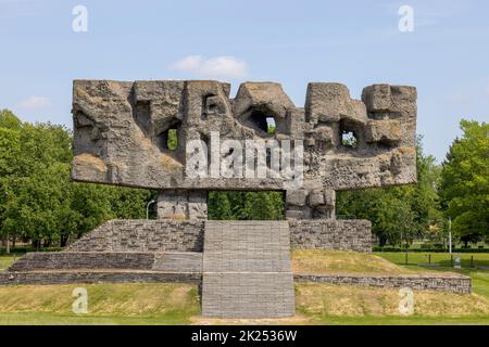
[(381, 246), (410, 244), (425, 235), (442, 217), (437, 193), (440, 169), (432, 156), (423, 153), (422, 138), (416, 162), (416, 184), (338, 192), (337, 215), (371, 220)]

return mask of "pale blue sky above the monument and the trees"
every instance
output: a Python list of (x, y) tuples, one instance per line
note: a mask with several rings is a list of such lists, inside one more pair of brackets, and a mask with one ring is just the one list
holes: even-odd
[[(88, 11), (75, 33), (75, 5)], [(401, 33), (401, 5), (414, 31)], [(489, 120), (487, 1), (0, 0), (0, 108), (72, 127), (72, 80), (309, 81), (360, 98), (376, 82), (418, 89), (418, 133), (442, 160), (463, 117)]]

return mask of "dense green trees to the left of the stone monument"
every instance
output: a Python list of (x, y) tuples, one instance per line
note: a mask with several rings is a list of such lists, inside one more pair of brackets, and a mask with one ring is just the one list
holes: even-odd
[(70, 130), (0, 112), (0, 237), (64, 246), (112, 218), (145, 218), (147, 190), (70, 180)]

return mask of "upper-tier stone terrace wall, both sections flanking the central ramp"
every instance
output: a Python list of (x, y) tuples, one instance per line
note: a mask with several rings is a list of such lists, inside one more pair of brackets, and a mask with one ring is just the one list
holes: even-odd
[[(367, 220), (288, 220), (290, 245), (303, 249), (372, 252)], [(202, 252), (204, 221), (111, 220), (68, 252)]]

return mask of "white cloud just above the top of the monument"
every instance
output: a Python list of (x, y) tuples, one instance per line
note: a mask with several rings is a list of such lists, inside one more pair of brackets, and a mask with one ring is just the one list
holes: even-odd
[(172, 68), (208, 78), (242, 78), (248, 75), (248, 66), (243, 60), (227, 55), (209, 59), (189, 55), (176, 62)]

